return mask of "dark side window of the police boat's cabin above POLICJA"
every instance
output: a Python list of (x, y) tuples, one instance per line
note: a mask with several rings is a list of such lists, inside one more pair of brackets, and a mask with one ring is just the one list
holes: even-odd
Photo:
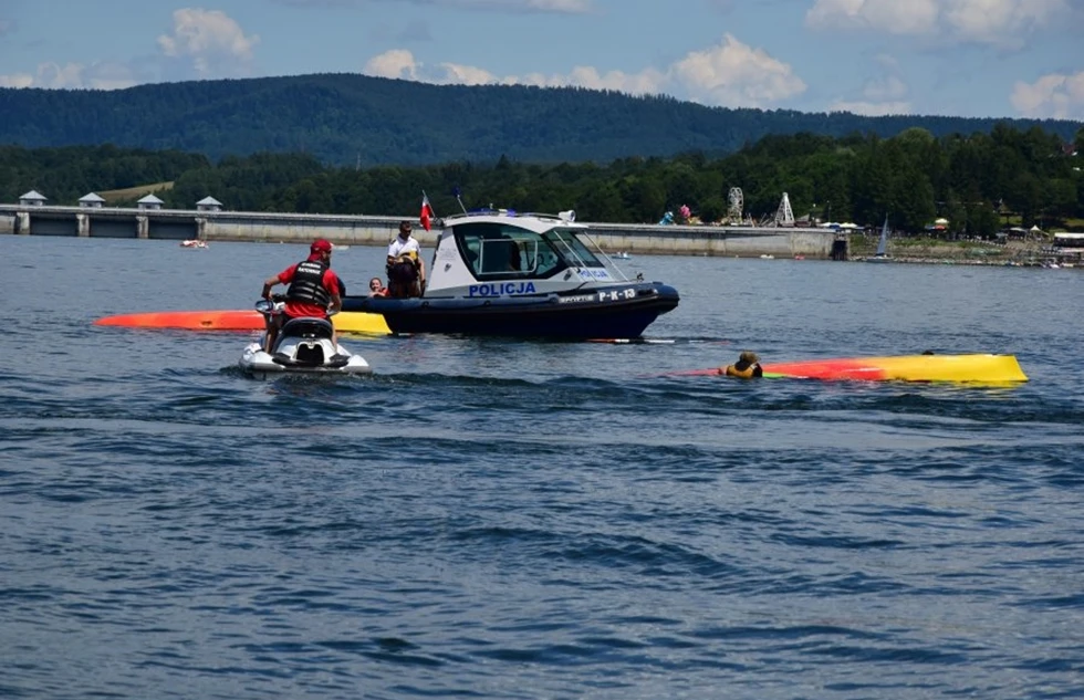
[(479, 280), (541, 279), (569, 267), (550, 240), (514, 226), (462, 223), (456, 244)]

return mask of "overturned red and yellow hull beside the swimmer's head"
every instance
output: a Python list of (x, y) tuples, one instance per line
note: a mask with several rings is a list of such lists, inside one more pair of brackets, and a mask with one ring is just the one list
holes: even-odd
[(763, 365), (764, 375), (805, 379), (867, 382), (1026, 382), (1013, 355), (901, 355), (812, 359)]

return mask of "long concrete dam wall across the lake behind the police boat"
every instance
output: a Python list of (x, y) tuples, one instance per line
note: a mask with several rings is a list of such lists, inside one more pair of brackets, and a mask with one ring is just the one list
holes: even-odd
[[(308, 243), (325, 238), (340, 245), (386, 245), (403, 219), (413, 221), (415, 217), (0, 205), (0, 234), (274, 243)], [(432, 245), (438, 226), (432, 231), (415, 226), (414, 236), (423, 245)], [(592, 238), (607, 253), (821, 260), (846, 257), (845, 236), (831, 229), (590, 222), (587, 226)]]

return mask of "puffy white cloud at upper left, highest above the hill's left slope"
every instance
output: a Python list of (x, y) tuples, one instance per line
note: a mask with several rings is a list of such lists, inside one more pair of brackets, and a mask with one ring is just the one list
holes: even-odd
[(173, 33), (158, 36), (163, 54), (190, 60), (200, 77), (249, 73), (252, 49), (260, 42), (258, 35), (246, 35), (232, 18), (219, 10), (185, 8), (175, 11), (173, 19)]

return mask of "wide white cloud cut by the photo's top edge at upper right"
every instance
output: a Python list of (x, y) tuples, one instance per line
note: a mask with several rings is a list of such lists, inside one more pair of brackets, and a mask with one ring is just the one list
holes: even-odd
[(814, 0), (815, 29), (859, 29), (941, 40), (1020, 45), (1073, 12), (1071, 0)]

